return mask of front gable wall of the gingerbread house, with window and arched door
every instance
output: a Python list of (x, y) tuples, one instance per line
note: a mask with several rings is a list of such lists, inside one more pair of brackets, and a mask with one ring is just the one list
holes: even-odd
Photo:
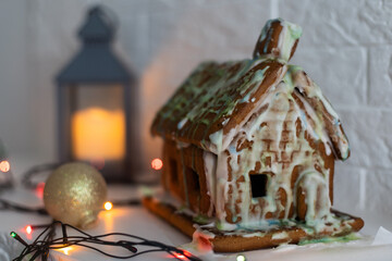
[[(329, 213), (338, 153), (324, 117), (335, 113), (323, 97), (316, 98), (321, 92), (308, 77), (311, 86), (306, 88), (314, 96), (305, 94), (299, 75), (307, 77), (299, 67), (287, 65), (283, 79), (265, 92), (229, 146), (217, 154), (216, 169), (209, 171), (213, 178), (207, 181), (221, 224), (244, 227), (260, 220), (317, 220)], [(318, 105), (310, 105), (309, 99)], [(331, 122), (339, 123), (339, 117)], [(213, 142), (219, 147), (223, 135), (217, 136)], [(339, 139), (336, 145), (345, 149), (339, 153), (346, 157), (344, 133)]]

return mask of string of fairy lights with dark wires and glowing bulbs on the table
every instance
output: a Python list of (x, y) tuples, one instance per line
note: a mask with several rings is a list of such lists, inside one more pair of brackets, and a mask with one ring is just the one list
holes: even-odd
[[(42, 183), (35, 183), (33, 178), (39, 174), (45, 172), (52, 171), (57, 169), (59, 163), (50, 163), (50, 164), (41, 164), (32, 167), (24, 174), (23, 184), (27, 188), (35, 188), (42, 190)], [(151, 162), (151, 167), (157, 170), (162, 167), (162, 162), (154, 161)], [(125, 199), (125, 200), (117, 200), (117, 201), (107, 201), (102, 206), (102, 210), (110, 211), (114, 207), (123, 207), (123, 206), (139, 206), (139, 199)], [(12, 202), (5, 199), (0, 199), (0, 210), (11, 210), (23, 213), (36, 213), (40, 215), (48, 215), (48, 212), (45, 208), (32, 208), (27, 206), (23, 206), (16, 202)], [(62, 235), (56, 236), (56, 228), (60, 226)], [(117, 259), (131, 259), (140, 254), (146, 254), (149, 252), (163, 251), (169, 253), (172, 258), (177, 260), (189, 260), (189, 261), (199, 261), (200, 259), (193, 256), (191, 252), (180, 249), (173, 246), (166, 245), (160, 241), (149, 240), (143, 238), (140, 236), (126, 234), (126, 233), (109, 233), (102, 235), (90, 235), (75, 226), (70, 224), (62, 223), (60, 221), (53, 221), (50, 224), (46, 225), (26, 225), (24, 231), (27, 235), (32, 235), (33, 232), (37, 229), (42, 229), (42, 232), (35, 238), (35, 240), (30, 244), (26, 243), (15, 232), (11, 232), (10, 236), (21, 243), (24, 246), (24, 249), (13, 261), (22, 261), (27, 258), (27, 260), (49, 260), (49, 251), (50, 250), (62, 250), (64, 253), (68, 253), (72, 246), (77, 246), (81, 248), (87, 248), (94, 251), (97, 251), (101, 254), (105, 254), (109, 258)], [(72, 231), (72, 236), (69, 236), (70, 231)], [(75, 235), (76, 234), (76, 235)], [(109, 238), (120, 238), (119, 240), (113, 240)], [(112, 253), (115, 251), (110, 248), (111, 251), (105, 251), (99, 246), (111, 246), (117, 249), (125, 249), (128, 252), (120, 256)], [(139, 251), (138, 247), (142, 247), (142, 251)], [(144, 248), (148, 248), (144, 250)]]

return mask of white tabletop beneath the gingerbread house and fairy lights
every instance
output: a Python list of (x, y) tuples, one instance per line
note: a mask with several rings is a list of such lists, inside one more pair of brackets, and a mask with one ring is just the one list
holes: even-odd
[[(21, 166), (20, 166), (21, 167)], [(15, 167), (19, 169), (19, 167)], [(19, 169), (20, 170), (20, 169)], [(17, 175), (15, 175), (17, 176)], [(16, 178), (17, 179), (17, 178)], [(109, 186), (109, 199), (128, 199), (137, 195), (132, 186)], [(30, 207), (42, 207), (41, 200), (35, 191), (26, 190), (22, 186), (15, 189), (0, 192), (0, 198), (12, 200)], [(392, 260), (392, 244), (371, 246), (373, 237), (380, 226), (392, 231), (391, 216), (377, 216), (373, 213), (359, 213), (365, 220), (365, 227), (362, 231), (364, 238), (347, 244), (314, 244), (306, 246), (283, 246), (277, 249), (256, 250), (243, 253), (246, 260)], [(15, 231), (22, 237), (34, 239), (38, 232), (32, 236), (26, 235), (24, 227), (28, 224), (47, 224), (50, 217), (38, 214), (19, 213), (14, 211), (0, 212), (0, 234), (9, 234)], [(148, 239), (159, 240), (168, 245), (180, 246), (188, 244), (191, 239), (166, 222), (156, 217), (143, 207), (114, 208), (99, 214), (98, 225), (86, 231), (91, 235), (99, 235), (112, 232), (123, 232), (138, 235)], [(106, 248), (107, 250), (113, 250)], [(115, 253), (128, 253), (121, 250)], [(203, 260), (235, 260), (237, 254), (211, 254), (198, 253)], [(73, 247), (69, 256), (57, 254), (61, 260), (100, 261), (113, 260), (93, 250)], [(0, 257), (1, 258), (1, 257)], [(164, 252), (148, 253), (136, 257), (132, 260), (174, 260)], [(1, 260), (2, 261), (2, 260)]]

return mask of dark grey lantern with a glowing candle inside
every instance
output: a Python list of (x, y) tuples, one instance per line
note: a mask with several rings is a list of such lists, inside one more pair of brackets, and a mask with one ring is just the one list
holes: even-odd
[(57, 77), (59, 156), (62, 162), (89, 162), (108, 182), (130, 182), (135, 80), (111, 50), (113, 22), (107, 10), (90, 9), (78, 32), (82, 49)]

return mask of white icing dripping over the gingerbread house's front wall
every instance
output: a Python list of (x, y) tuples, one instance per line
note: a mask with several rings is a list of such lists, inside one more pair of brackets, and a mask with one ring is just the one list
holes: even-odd
[[(237, 223), (241, 226), (259, 225), (260, 219), (265, 219), (268, 212), (280, 213), (283, 211), (284, 219), (287, 219), (291, 206), (295, 207), (294, 195), (296, 188), (292, 189), (290, 186), (291, 174), (295, 165), (314, 167), (314, 164), (317, 163), (322, 171), (320, 176), (322, 176), (326, 189), (329, 191), (329, 170), (323, 167), (324, 163), (321, 156), (318, 152), (315, 153), (315, 149), (309, 146), (305, 138), (305, 130), (315, 140), (322, 141), (327, 152), (330, 142), (329, 137), (324, 129), (320, 127), (322, 124), (319, 117), (306, 100), (302, 100), (306, 113), (296, 104), (295, 100), (291, 97), (293, 88), (290, 84), (291, 82), (286, 80), (279, 84), (277, 88), (270, 88), (268, 94), (265, 95), (262, 103), (258, 105), (258, 109), (266, 109), (261, 114), (252, 119), (241, 129), (236, 130), (236, 137), (228, 146), (226, 150), (218, 156), (218, 197), (216, 200), (217, 217), (221, 228), (231, 227), (225, 221), (225, 207), (234, 215), (234, 222), (241, 217), (241, 221)], [(298, 137), (296, 137), (297, 120), (299, 120), (302, 125)], [(267, 123), (267, 125), (262, 125), (264, 123)], [(284, 137), (282, 136), (283, 132), (286, 132)], [(226, 140), (228, 136), (222, 137), (220, 133), (216, 133), (210, 136), (210, 139), (219, 148), (221, 138)], [(253, 141), (253, 146), (236, 151), (237, 145), (241, 146), (245, 140)], [(285, 148), (282, 148), (281, 142), (285, 140), (290, 142), (286, 142)], [(224, 148), (224, 146), (221, 148)], [(240, 163), (238, 157), (241, 157)], [(268, 161), (271, 163), (271, 166), (267, 164), (267, 158), (270, 158)], [(233, 181), (228, 181), (228, 160)], [(250, 197), (248, 173), (256, 169), (257, 162), (260, 163), (258, 173), (272, 172), (274, 175), (269, 177), (267, 196), (255, 199)], [(243, 178), (243, 182), (237, 182), (238, 178)], [(285, 203), (281, 202), (279, 198), (280, 192), (282, 192), (279, 190), (280, 188), (286, 195)], [(231, 190), (230, 194), (229, 190)], [(240, 200), (240, 203), (236, 200)], [(328, 192), (326, 200), (327, 202), (322, 209), (318, 210), (319, 213), (329, 213), (330, 200)], [(309, 199), (308, 202), (311, 202), (311, 200)], [(238, 208), (240, 213), (236, 213), (235, 210)], [(308, 216), (311, 216), (311, 214)]]

